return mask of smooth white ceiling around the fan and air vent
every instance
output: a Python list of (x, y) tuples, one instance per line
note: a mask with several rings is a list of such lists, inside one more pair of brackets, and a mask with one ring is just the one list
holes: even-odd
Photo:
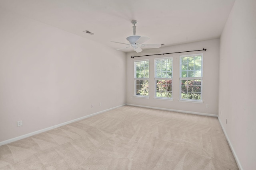
[(0, 0), (0, 6), (114, 50), (126, 45), (110, 41), (129, 43), (131, 20), (138, 21), (136, 35), (150, 37), (146, 43), (170, 46), (219, 38), (234, 1)]

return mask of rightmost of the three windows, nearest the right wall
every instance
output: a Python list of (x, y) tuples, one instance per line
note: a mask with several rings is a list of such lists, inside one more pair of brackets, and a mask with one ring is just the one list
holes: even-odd
[(180, 56), (180, 100), (202, 101), (203, 54)]

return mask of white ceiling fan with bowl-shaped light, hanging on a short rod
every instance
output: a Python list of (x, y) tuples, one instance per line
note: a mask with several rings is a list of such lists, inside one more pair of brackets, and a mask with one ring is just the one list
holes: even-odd
[[(126, 38), (129, 41), (130, 44), (120, 43), (120, 44), (128, 45), (128, 47), (124, 47), (124, 48), (121, 48), (121, 49), (132, 47), (134, 49), (134, 51), (136, 51), (137, 53), (140, 53), (140, 52), (142, 52), (141, 47), (146, 47), (146, 48), (159, 48), (159, 47), (161, 47), (160, 44), (143, 44), (144, 42), (148, 41), (149, 38), (148, 37), (141, 37), (141, 36), (136, 35), (136, 25), (135, 24), (137, 22), (138, 21), (136, 21), (136, 20), (131, 21), (131, 23), (133, 24), (133, 26), (132, 26), (133, 35)], [(119, 42), (116, 42), (116, 41), (111, 41), (111, 42), (119, 43)], [(120, 50), (120, 49), (117, 49), (117, 50)]]

